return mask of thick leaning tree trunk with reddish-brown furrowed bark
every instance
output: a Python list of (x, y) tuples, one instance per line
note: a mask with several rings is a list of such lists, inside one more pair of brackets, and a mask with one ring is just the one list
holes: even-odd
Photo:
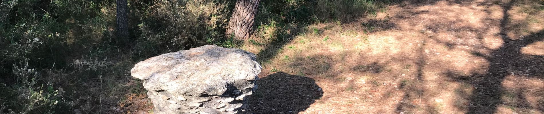
[(238, 40), (246, 40), (251, 37), (258, 5), (259, 0), (236, 1), (232, 17), (227, 26), (227, 37), (234, 36)]

